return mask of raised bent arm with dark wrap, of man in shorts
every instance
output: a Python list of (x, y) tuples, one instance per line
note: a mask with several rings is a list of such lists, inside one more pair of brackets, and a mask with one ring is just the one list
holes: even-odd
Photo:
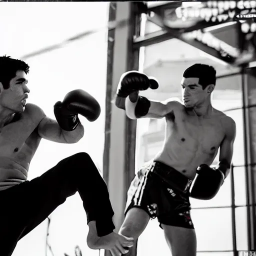
[[(138, 94), (132, 93), (125, 99), (125, 112), (130, 119), (152, 118), (160, 119), (173, 112), (175, 107), (182, 106), (178, 100), (168, 98), (164, 101), (146, 100), (143, 101)], [(146, 108), (144, 106), (146, 105)], [(148, 107), (149, 106), (149, 107)], [(142, 110), (142, 111), (141, 111)], [(143, 114), (141, 115), (141, 112)]]

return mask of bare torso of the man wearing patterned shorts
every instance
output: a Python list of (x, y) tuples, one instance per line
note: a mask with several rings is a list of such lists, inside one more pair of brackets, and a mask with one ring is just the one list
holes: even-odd
[(198, 165), (214, 160), (230, 117), (213, 109), (210, 116), (201, 118), (177, 103), (165, 119), (164, 145), (154, 159), (193, 179)]

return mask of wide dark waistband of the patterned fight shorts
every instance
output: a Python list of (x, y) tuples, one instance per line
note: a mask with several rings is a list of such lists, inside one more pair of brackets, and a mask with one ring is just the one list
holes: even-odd
[(181, 174), (175, 168), (168, 166), (159, 161), (153, 161), (154, 168), (152, 171), (161, 177), (165, 182), (181, 192), (187, 192), (192, 180)]

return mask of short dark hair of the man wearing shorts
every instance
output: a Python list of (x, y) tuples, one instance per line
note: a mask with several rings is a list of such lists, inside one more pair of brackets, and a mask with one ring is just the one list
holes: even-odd
[(198, 77), (198, 83), (202, 85), (202, 89), (209, 84), (216, 83), (216, 70), (213, 66), (196, 63), (189, 66), (184, 72), (183, 77)]

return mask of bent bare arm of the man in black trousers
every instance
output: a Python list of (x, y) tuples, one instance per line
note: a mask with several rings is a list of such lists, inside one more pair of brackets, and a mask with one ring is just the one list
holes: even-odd
[(72, 131), (61, 129), (56, 120), (45, 116), (37, 126), (39, 136), (50, 141), (58, 143), (76, 143), (84, 134), (84, 129), (81, 123)]

